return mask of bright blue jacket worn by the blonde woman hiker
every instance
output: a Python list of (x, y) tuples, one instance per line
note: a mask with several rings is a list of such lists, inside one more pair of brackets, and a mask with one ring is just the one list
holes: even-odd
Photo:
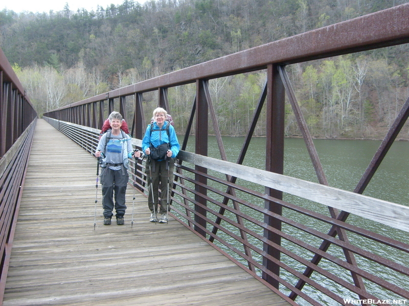
[[(169, 124), (169, 136), (168, 133), (166, 132), (166, 125)], [(150, 133), (150, 130), (153, 127), (152, 135)], [(157, 126), (156, 122), (153, 122), (152, 124), (149, 124), (145, 136), (142, 139), (142, 151), (145, 153), (145, 150), (147, 148), (150, 148), (150, 144), (154, 147), (157, 147), (158, 145), (161, 145), (163, 143), (170, 143), (170, 149), (172, 150), (172, 158), (176, 158), (177, 154), (179, 153), (180, 145), (177, 140), (176, 132), (174, 127), (168, 122), (165, 121), (162, 130), (161, 131), (154, 131), (154, 130), (159, 130), (160, 127)]]

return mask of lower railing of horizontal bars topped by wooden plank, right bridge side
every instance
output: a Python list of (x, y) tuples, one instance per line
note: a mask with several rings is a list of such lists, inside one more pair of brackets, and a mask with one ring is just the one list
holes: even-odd
[[(44, 119), (88, 152), (95, 151), (100, 130)], [(141, 140), (133, 138), (132, 144), (141, 149)], [(130, 185), (147, 196), (145, 163), (131, 160), (130, 165)], [(170, 215), (193, 232), (199, 229), (203, 239), (260, 281), (263, 273), (276, 279), (278, 289), (264, 283), (290, 303), (409, 300), (409, 245), (390, 237), (391, 231), (397, 237), (409, 233), (409, 207), (187, 151), (180, 151), (174, 177)], [(201, 183), (203, 178), (207, 184)], [(267, 195), (266, 188), (282, 191), (292, 202)], [(277, 203), (283, 212), (264, 208), (265, 201)], [(331, 218), (328, 206), (354, 214), (353, 223), (365, 226)], [(281, 220), (282, 228), (270, 226), (269, 218)], [(381, 234), (385, 231), (389, 235)], [(266, 238), (265, 232), (281, 239)], [(266, 247), (279, 250), (280, 260)], [(351, 254), (354, 261), (343, 259)], [(280, 273), (272, 273), (265, 259), (280, 266)]]

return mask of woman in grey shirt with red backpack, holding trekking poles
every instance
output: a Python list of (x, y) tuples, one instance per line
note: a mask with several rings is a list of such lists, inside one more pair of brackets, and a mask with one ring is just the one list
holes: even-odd
[[(128, 158), (139, 158), (139, 151), (133, 151), (131, 137), (121, 130), (122, 115), (112, 112), (109, 117), (111, 130), (101, 136), (95, 156), (103, 157), (101, 162), (102, 208), (104, 224), (111, 224), (113, 208), (117, 224), (123, 225), (126, 210), (125, 192), (128, 185)], [(114, 196), (115, 192), (115, 196)], [(115, 203), (113, 201), (115, 199)]]

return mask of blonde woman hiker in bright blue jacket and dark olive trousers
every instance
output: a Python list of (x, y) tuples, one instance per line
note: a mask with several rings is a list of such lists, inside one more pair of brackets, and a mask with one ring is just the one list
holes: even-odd
[[(153, 111), (153, 123), (149, 124), (142, 140), (142, 151), (148, 157), (146, 176), (148, 184), (148, 207), (151, 211), (149, 221), (168, 222), (169, 185), (173, 184), (173, 169), (179, 142), (174, 127), (166, 120), (167, 112), (163, 108)], [(158, 189), (161, 185), (161, 206), (157, 211)]]

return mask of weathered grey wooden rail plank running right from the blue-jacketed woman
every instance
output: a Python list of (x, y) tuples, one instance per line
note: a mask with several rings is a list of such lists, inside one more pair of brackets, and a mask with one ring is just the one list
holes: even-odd
[(407, 222), (409, 207), (407, 206), (186, 151), (180, 151), (178, 157), (184, 162), (194, 163), (239, 179), (281, 190), (409, 232)]

